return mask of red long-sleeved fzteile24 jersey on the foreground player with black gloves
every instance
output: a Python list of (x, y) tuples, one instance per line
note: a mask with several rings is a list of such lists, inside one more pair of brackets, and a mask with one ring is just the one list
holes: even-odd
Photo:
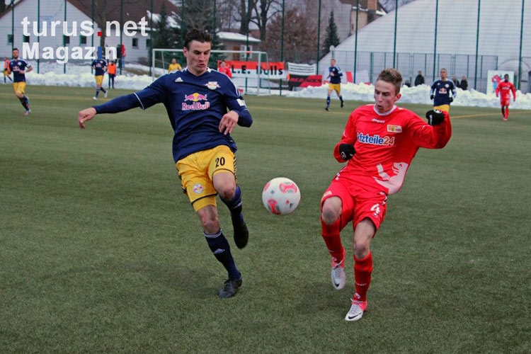
[(450, 140), (450, 116), (444, 114), (445, 120), (432, 126), (396, 105), (386, 114), (378, 113), (373, 104), (355, 109), (333, 156), (345, 162), (339, 153), (340, 144), (353, 144), (355, 154), (336, 178), (347, 178), (376, 193), (398, 192), (418, 148), (440, 149)]

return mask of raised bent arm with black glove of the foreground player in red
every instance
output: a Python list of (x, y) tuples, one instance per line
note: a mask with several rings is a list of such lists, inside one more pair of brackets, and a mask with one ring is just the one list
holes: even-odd
[(428, 122), (420, 117), (411, 119), (408, 132), (411, 140), (419, 147), (426, 149), (441, 149), (452, 137), (452, 125), (450, 115), (440, 110), (428, 110), (426, 112)]

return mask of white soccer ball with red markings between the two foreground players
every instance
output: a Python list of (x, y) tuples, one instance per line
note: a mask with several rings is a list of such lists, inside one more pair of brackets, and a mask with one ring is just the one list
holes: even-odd
[(273, 178), (263, 187), (262, 202), (265, 209), (273, 214), (290, 214), (299, 205), (299, 187), (290, 178)]

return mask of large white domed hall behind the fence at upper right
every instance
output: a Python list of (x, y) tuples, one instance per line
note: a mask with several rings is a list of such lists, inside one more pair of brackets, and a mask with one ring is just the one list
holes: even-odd
[[(471, 89), (484, 91), (488, 70), (511, 70), (518, 75), (520, 68), (520, 88), (528, 91), (531, 45), (525, 35), (531, 28), (531, 1), (525, 1), (523, 59), (519, 62), (522, 2), (504, 1), (501, 4), (498, 0), (481, 1), (477, 35), (479, 1), (412, 1), (398, 8), (396, 37), (395, 11), (392, 11), (358, 30), (357, 43), (355, 35), (341, 42), (333, 53), (321, 59), (319, 72), (325, 73), (332, 55), (343, 72), (362, 72), (363, 75), (359, 77), (368, 76), (371, 82), (375, 81), (382, 69), (392, 67), (393, 63), (404, 80), (413, 80), (417, 71), (421, 70), (427, 84), (433, 81), (433, 72), (436, 79), (439, 69), (445, 67), (450, 77), (455, 75), (461, 79), (463, 75), (467, 76)], [(438, 13), (436, 47), (435, 13)], [(358, 56), (354, 70), (355, 50)], [(394, 58), (393, 52), (396, 52)], [(515, 83), (518, 79), (515, 78)]]

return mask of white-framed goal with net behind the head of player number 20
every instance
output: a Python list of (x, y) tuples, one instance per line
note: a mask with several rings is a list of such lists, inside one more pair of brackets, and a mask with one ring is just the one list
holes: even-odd
[[(186, 66), (182, 49), (152, 50), (152, 80), (168, 72), (171, 59), (176, 58), (181, 67)], [(253, 95), (271, 94), (271, 76), (278, 71), (269, 68), (266, 52), (245, 50), (212, 50), (209, 67), (217, 69), (221, 60), (232, 70), (232, 81), (242, 93)]]

